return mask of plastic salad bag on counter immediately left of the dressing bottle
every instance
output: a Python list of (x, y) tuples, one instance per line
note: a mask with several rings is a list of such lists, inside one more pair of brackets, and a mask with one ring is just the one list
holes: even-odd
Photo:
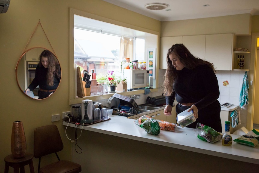
[(194, 132), (199, 139), (209, 143), (214, 143), (222, 139), (222, 134), (215, 131), (213, 128), (203, 125), (201, 123), (197, 123)]

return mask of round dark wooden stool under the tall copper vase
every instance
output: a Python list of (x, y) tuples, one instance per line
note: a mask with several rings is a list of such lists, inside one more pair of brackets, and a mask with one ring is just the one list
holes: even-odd
[(10, 154), (5, 157), (5, 173), (8, 173), (9, 171), (9, 166), (14, 168), (14, 173), (19, 173), (19, 168), (20, 172), (24, 173), (24, 166), (29, 165), (30, 166), (30, 171), (31, 173), (34, 173), (34, 168), (33, 168), (33, 154), (26, 153), (24, 157), (20, 159), (14, 159), (13, 155)]

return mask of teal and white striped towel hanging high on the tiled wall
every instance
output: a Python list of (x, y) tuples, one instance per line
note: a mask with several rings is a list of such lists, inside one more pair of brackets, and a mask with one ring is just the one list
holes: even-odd
[(239, 96), (239, 106), (241, 108), (244, 108), (244, 106), (248, 104), (248, 90), (249, 90), (248, 77), (247, 77), (247, 72), (245, 71), (242, 88)]

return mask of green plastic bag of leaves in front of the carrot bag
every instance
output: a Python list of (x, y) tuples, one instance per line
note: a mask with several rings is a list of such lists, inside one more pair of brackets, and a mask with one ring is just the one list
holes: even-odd
[[(160, 134), (160, 126), (157, 120), (150, 118), (142, 123), (142, 128), (149, 134), (158, 135)], [(141, 125), (140, 125), (141, 126)]]

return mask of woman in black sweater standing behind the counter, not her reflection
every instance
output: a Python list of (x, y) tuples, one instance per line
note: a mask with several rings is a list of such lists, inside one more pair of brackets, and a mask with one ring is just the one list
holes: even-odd
[[(164, 93), (164, 114), (171, 115), (176, 98), (176, 113), (193, 110), (196, 122), (187, 127), (196, 128), (197, 122), (222, 132), (219, 87), (212, 63), (194, 57), (183, 44), (175, 44), (167, 53)], [(199, 116), (198, 116), (199, 115)]]

